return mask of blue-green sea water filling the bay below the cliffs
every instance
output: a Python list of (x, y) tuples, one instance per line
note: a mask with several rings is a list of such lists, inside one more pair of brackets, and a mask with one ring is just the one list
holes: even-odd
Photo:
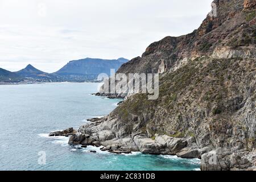
[[(115, 155), (99, 148), (68, 146), (51, 131), (78, 128), (86, 119), (109, 114), (119, 100), (92, 96), (98, 84), (0, 85), (0, 170), (195, 170), (198, 159)], [(90, 153), (89, 150), (97, 153)], [(46, 164), (38, 164), (38, 152)]]

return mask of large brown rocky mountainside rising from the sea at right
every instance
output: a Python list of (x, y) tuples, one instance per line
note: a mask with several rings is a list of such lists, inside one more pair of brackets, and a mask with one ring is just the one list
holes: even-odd
[(82, 144), (200, 158), (205, 171), (256, 169), (256, 1), (213, 3), (216, 15), (197, 30), (152, 43), (118, 70), (160, 73), (159, 98), (127, 97), (80, 127)]

